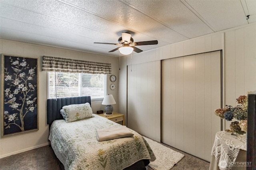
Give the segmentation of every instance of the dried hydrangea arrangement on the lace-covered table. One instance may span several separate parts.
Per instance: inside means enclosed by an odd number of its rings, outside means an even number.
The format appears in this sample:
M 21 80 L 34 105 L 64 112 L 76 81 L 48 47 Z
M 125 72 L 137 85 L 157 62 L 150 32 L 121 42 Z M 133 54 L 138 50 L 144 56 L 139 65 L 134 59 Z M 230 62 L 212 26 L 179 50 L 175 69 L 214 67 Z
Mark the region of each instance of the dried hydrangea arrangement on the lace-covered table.
M 236 99 L 236 102 L 238 102 L 237 106 L 232 107 L 226 105 L 223 109 L 214 110 L 214 113 L 227 121 L 236 119 L 237 121 L 232 121 L 230 124 L 231 130 L 228 129 L 227 131 L 243 135 L 247 130 L 247 96 L 239 96 L 239 98 Z

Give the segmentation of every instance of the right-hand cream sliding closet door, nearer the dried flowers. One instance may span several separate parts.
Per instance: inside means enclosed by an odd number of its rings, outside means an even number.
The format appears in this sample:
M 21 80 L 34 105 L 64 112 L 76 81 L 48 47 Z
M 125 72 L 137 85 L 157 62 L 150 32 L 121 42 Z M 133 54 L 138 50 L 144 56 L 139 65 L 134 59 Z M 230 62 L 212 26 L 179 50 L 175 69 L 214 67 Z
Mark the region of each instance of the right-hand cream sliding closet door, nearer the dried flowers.
M 220 118 L 221 53 L 162 61 L 162 142 L 210 161 Z

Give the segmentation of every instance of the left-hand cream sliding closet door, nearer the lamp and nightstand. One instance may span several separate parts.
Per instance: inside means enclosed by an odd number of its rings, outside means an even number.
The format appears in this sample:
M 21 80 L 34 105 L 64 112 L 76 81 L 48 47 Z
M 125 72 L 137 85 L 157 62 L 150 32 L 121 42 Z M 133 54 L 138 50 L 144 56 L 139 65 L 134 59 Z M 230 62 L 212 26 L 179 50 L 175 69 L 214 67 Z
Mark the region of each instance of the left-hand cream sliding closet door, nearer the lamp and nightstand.
M 127 126 L 160 139 L 160 61 L 128 66 Z

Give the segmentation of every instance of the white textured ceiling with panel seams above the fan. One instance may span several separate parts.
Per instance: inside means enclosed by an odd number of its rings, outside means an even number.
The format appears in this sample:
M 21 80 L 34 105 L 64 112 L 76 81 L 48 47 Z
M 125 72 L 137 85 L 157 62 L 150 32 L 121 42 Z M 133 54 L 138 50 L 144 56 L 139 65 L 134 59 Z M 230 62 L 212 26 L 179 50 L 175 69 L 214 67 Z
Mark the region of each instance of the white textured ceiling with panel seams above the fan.
M 129 32 L 158 40 L 136 46 L 147 51 L 252 22 L 256 0 L 0 0 L 0 38 L 113 57 L 118 46 L 94 42 Z

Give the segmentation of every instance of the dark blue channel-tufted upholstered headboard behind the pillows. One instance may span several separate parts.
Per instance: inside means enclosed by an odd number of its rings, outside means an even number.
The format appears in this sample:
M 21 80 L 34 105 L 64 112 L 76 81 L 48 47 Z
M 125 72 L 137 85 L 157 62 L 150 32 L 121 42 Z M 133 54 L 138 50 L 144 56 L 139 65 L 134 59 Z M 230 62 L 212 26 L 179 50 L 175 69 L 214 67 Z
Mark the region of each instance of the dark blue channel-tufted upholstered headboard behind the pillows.
M 91 96 L 79 96 L 70 98 L 47 99 L 47 124 L 51 125 L 54 120 L 63 119 L 60 109 L 65 105 L 82 104 L 88 102 L 91 105 Z

